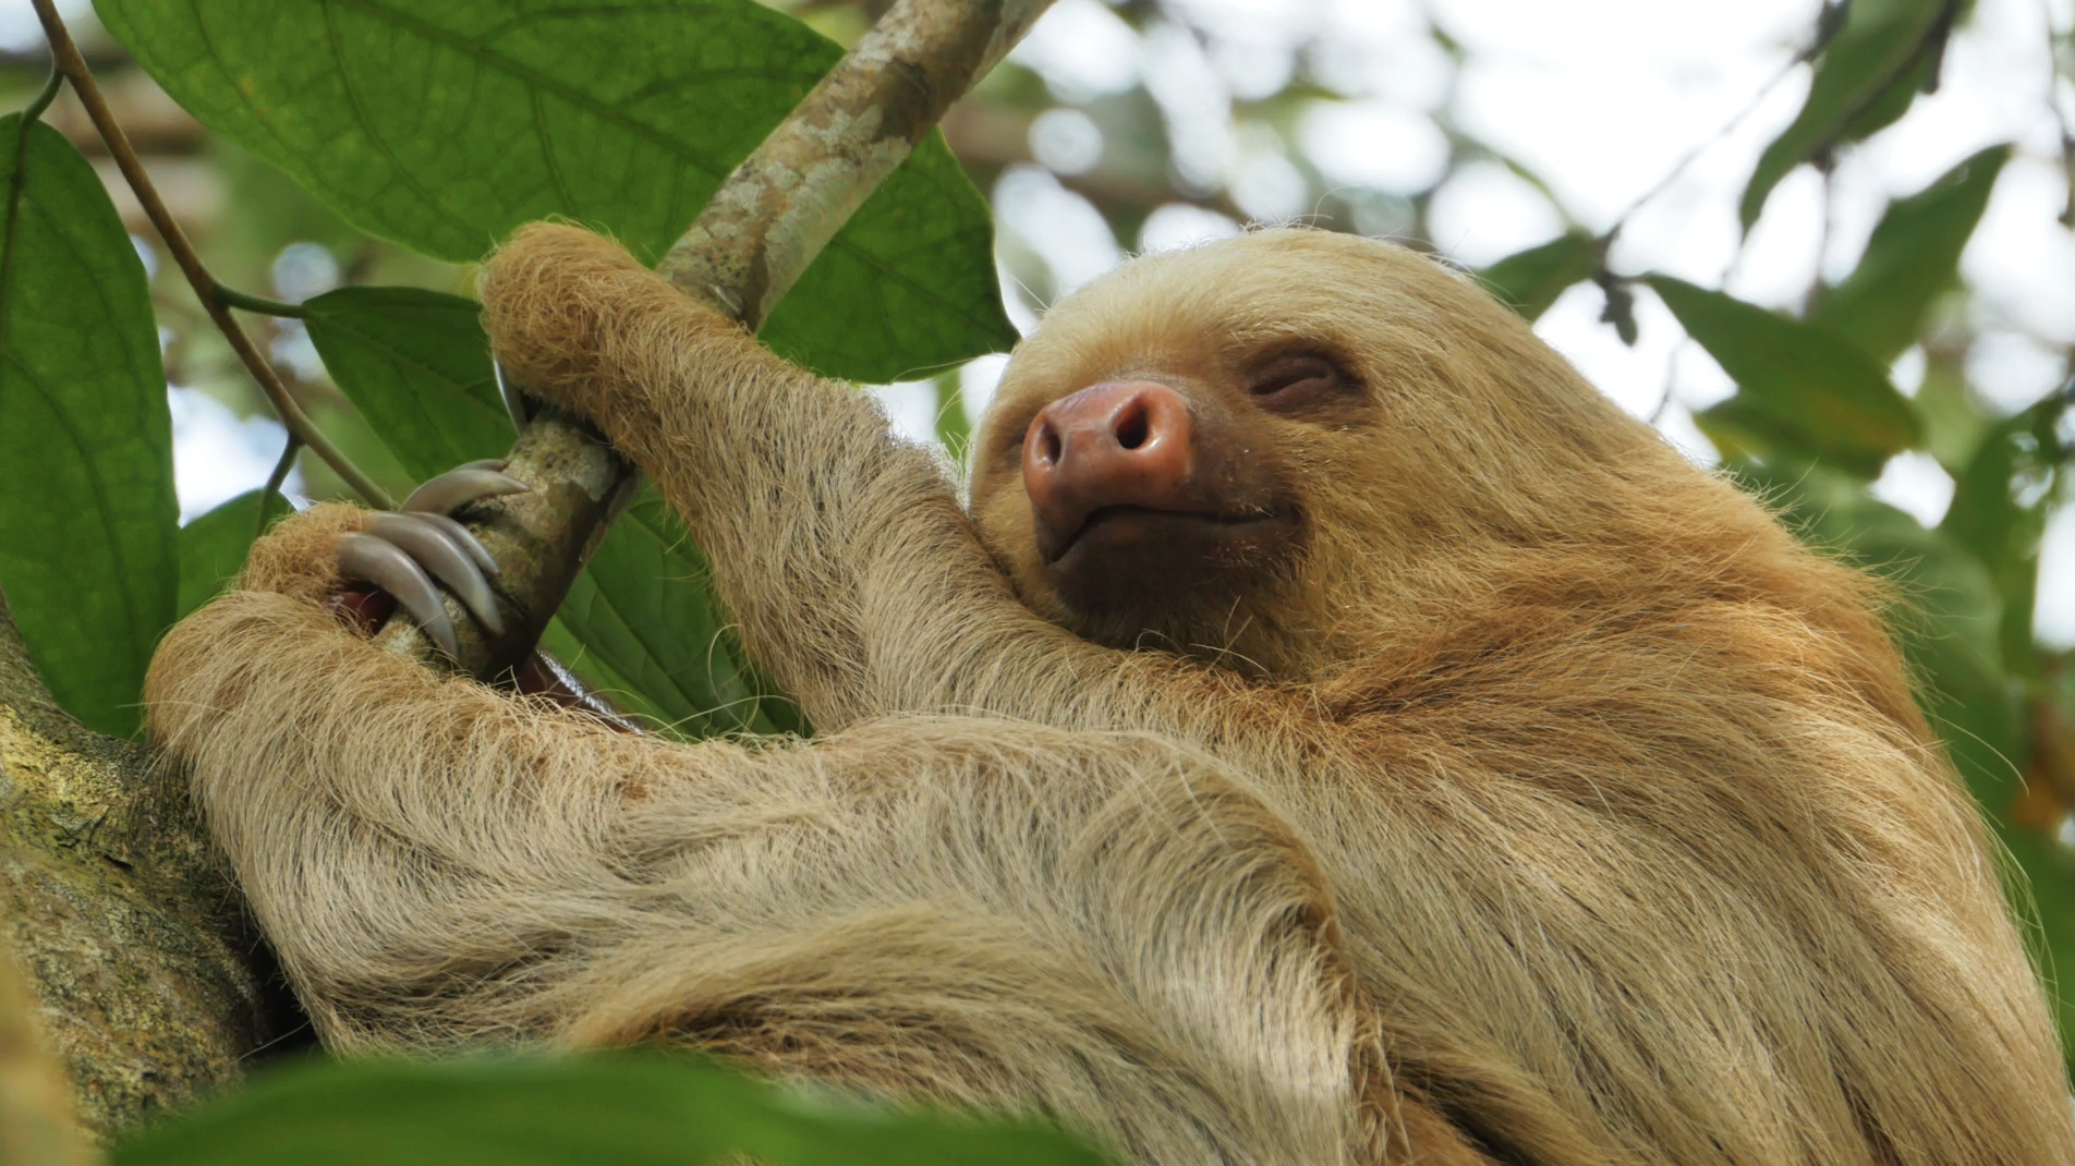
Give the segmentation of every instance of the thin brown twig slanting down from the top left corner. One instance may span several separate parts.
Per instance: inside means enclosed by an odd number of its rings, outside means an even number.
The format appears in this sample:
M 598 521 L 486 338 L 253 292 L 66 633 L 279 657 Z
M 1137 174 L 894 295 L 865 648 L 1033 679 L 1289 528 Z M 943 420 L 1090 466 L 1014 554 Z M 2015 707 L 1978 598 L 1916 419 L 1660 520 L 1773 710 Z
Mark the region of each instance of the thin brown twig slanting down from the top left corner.
M 79 46 L 73 44 L 73 35 L 64 29 L 56 4 L 52 0 L 31 0 L 31 4 L 35 4 L 35 17 L 44 23 L 44 35 L 50 37 L 50 54 L 56 58 L 58 71 L 64 73 L 64 79 L 73 83 L 73 91 L 79 93 L 79 104 L 87 108 L 87 118 L 93 120 L 93 129 L 108 143 L 108 154 L 116 160 L 116 168 L 122 170 L 122 178 L 137 195 L 137 203 L 143 205 L 145 218 L 158 228 L 158 237 L 166 241 L 166 249 L 172 251 L 172 259 L 181 266 L 181 274 L 187 276 L 187 284 L 195 288 L 195 299 L 201 301 L 203 311 L 210 313 L 216 328 L 230 340 L 230 349 L 245 361 L 253 380 L 259 382 L 288 436 L 324 459 L 324 465 L 332 467 L 332 473 L 365 498 L 369 506 L 394 510 L 396 500 L 376 485 L 361 467 L 353 465 L 353 459 L 324 436 L 324 429 L 311 421 L 309 413 L 303 413 L 303 407 L 288 394 L 288 386 L 282 384 L 280 373 L 259 355 L 251 336 L 230 315 L 224 286 L 201 266 L 201 255 L 195 253 L 193 243 L 187 241 L 187 232 L 181 230 L 172 212 L 166 210 L 166 201 L 158 197 L 158 187 L 151 185 L 151 176 L 143 170 L 143 160 L 131 147 L 129 135 L 116 122 L 108 100 L 102 98 L 100 85 L 93 83 L 93 73 L 87 71 L 87 60 L 79 56 Z

